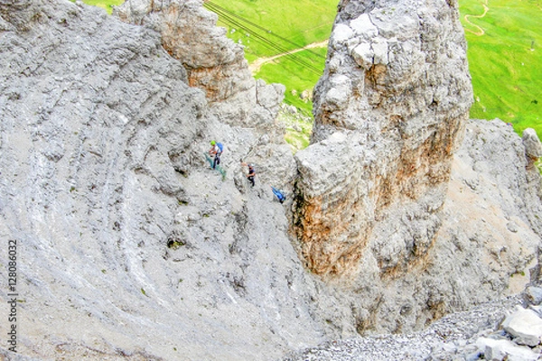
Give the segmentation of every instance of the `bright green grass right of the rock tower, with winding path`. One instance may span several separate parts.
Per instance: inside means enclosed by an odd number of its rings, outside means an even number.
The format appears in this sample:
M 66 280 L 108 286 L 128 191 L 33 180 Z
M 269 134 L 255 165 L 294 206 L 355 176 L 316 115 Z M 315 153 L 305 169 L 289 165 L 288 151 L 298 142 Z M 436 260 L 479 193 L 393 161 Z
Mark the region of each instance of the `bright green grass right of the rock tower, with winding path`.
M 468 32 L 476 29 L 464 15 L 483 14 L 481 0 L 460 0 L 476 99 L 471 116 L 499 117 L 519 134 L 531 127 L 542 138 L 542 3 L 491 0 L 488 6 L 483 18 L 470 18 L 485 32 L 478 36 Z

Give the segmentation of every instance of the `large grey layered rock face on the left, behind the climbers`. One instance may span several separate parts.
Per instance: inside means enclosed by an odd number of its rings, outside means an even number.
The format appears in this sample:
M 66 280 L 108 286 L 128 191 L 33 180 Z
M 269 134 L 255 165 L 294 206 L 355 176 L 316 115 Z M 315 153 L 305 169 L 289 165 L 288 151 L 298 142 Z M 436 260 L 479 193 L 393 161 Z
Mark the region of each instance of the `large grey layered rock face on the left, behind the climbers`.
M 20 354 L 257 360 L 322 339 L 267 183 L 294 172 L 272 112 L 259 128 L 220 122 L 159 32 L 98 8 L 3 0 L 0 16 L 0 236 L 18 245 Z M 263 109 L 280 101 L 269 87 L 253 88 Z M 224 181 L 202 154 L 213 138 Z M 255 189 L 240 158 L 266 160 Z

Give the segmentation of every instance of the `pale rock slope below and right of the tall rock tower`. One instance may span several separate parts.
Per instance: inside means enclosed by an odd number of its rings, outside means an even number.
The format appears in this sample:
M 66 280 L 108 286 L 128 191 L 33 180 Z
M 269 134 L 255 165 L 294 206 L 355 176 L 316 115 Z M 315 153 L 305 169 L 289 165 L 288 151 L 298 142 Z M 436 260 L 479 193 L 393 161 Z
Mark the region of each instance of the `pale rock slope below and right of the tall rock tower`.
M 327 143 L 339 151 L 333 154 L 342 154 L 341 144 L 345 146 L 336 135 L 323 143 L 312 147 L 322 150 Z M 406 213 L 388 209 L 393 221 L 375 222 L 355 268 L 326 278 L 334 298 L 322 296 L 316 302 L 322 318 L 332 320 L 329 332 L 341 337 L 408 333 L 448 313 L 518 294 L 536 282 L 542 178 L 529 164 L 528 149 L 500 120 L 469 121 L 453 156 L 447 189 L 439 196 L 444 205 L 426 218 L 435 228 L 425 228 L 428 222 L 418 218 L 426 203 L 410 203 Z M 325 164 L 335 163 L 341 162 Z M 340 166 L 332 170 L 337 180 L 346 177 Z M 424 255 L 413 255 L 406 272 L 383 272 L 380 260 L 404 263 L 405 249 L 416 250 L 428 232 L 435 232 L 432 243 Z

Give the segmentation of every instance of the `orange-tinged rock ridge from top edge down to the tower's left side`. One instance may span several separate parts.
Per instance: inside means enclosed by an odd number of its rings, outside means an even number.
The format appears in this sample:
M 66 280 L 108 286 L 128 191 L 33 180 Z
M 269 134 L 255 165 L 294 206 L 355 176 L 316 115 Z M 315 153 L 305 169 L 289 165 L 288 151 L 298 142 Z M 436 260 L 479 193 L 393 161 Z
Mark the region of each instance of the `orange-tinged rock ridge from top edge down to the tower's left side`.
M 228 152 L 238 153 L 238 161 L 255 163 L 262 180 L 291 194 L 294 160 L 284 140 L 285 127 L 276 122 L 285 87 L 252 78 L 242 46 L 226 37 L 226 30 L 216 26 L 217 15 L 202 5 L 201 0 L 127 0 L 114 14 L 161 33 L 164 49 L 182 63 L 189 85 L 205 92 L 210 116 L 251 130 L 242 142 L 220 127 L 210 134 L 228 143 Z M 239 162 L 232 166 L 241 171 Z

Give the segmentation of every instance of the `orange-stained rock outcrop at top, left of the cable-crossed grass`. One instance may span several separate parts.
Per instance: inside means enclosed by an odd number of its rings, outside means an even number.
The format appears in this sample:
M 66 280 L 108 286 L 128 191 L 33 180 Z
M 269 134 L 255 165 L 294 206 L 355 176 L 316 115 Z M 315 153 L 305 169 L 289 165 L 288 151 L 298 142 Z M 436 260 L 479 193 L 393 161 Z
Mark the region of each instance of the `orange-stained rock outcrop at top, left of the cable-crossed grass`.
M 243 47 L 226 37 L 226 29 L 216 26 L 218 16 L 202 5 L 201 0 L 128 0 L 115 14 L 162 34 L 164 49 L 182 62 L 191 87 L 204 90 L 220 121 L 272 123 L 284 86 L 252 78 Z

